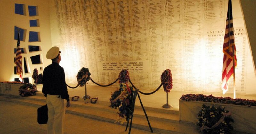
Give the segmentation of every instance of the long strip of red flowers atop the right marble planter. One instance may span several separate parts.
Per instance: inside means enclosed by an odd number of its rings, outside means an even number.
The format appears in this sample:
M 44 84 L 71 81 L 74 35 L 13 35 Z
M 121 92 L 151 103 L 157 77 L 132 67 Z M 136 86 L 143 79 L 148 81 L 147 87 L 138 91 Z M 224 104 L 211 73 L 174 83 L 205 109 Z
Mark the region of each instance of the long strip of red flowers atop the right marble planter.
M 256 106 L 255 100 L 248 99 L 233 99 L 230 97 L 215 97 L 212 95 L 203 94 L 186 94 L 182 95 L 181 98 L 184 101 L 203 101 L 203 102 L 214 102 L 214 103 L 224 103 L 224 104 L 235 104 L 235 105 L 245 105 L 245 106 Z

